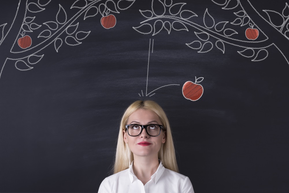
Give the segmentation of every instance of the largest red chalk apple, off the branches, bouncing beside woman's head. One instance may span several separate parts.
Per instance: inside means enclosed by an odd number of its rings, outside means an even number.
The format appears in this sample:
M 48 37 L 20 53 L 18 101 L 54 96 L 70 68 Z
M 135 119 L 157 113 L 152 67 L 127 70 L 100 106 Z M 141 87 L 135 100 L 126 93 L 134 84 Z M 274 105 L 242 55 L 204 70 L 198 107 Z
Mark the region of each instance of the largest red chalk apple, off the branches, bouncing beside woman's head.
M 186 99 L 196 101 L 201 98 L 204 92 L 204 88 L 201 84 L 197 84 L 203 81 L 203 77 L 195 77 L 195 82 L 187 81 L 183 86 L 183 95 Z

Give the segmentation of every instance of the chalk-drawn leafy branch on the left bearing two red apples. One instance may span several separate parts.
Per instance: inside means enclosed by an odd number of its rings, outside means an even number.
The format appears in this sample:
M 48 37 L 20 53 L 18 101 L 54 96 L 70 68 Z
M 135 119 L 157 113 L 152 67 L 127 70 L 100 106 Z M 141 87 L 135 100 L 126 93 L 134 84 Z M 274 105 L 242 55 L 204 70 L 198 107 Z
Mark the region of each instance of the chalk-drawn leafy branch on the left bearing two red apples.
M 51 0 L 46 1 L 45 4 L 40 3 L 39 0 L 38 3 L 28 3 L 28 0 L 19 0 L 14 19 L 9 29 L 6 30 L 7 32 L 4 33 L 4 27 L 7 25 L 7 23 L 0 25 L 0 30 L 2 32 L 0 46 L 3 46 L 3 42 L 5 42 L 5 47 L 9 47 L 9 49 L 3 49 L 7 52 L 3 53 L 3 55 L 9 55 L 9 57 L 3 58 L 4 61 L 0 61 L 0 63 L 3 65 L 0 72 L 0 78 L 3 73 L 4 66 L 8 60 L 15 60 L 16 69 L 26 71 L 33 69 L 33 67 L 30 67 L 27 63 L 38 63 L 44 56 L 44 54 L 39 55 L 38 52 L 43 52 L 43 49 L 45 49 L 50 44 L 54 44 L 56 52 L 59 52 L 63 42 L 71 46 L 81 44 L 80 41 L 84 40 L 90 34 L 90 31 L 77 32 L 79 22 L 75 23 L 75 21 L 80 16 L 84 15 L 83 19 L 85 20 L 88 17 L 96 16 L 98 13 L 100 13 L 102 17 L 105 17 L 103 14 L 106 14 L 107 18 L 101 20 L 101 25 L 106 28 L 111 28 L 115 25 L 113 25 L 115 16 L 112 14 L 109 15 L 109 12 L 119 13 L 118 10 L 126 10 L 135 2 L 135 0 L 128 0 L 129 4 L 127 4 L 127 2 L 124 2 L 124 0 L 118 0 L 117 3 L 112 0 L 107 0 L 105 1 L 105 3 L 100 3 L 99 7 L 96 6 L 96 3 L 99 3 L 100 1 L 102 0 L 72 1 L 72 5 L 70 8 L 73 10 L 77 10 L 77 12 L 73 16 L 71 16 L 71 18 L 68 18 L 65 9 L 62 7 L 62 5 L 59 4 L 58 12 L 55 16 L 55 21 L 44 21 L 43 25 L 40 25 L 32 22 L 37 17 L 38 12 L 46 11 L 46 8 L 44 8 L 44 6 L 49 4 Z M 103 12 L 100 12 L 100 7 L 104 8 Z M 33 15 L 27 15 L 30 13 L 33 13 Z M 21 23 L 21 25 L 17 26 L 16 23 Z M 46 29 L 42 29 L 44 26 L 46 27 Z M 47 27 L 49 29 L 47 29 Z M 36 30 L 38 28 L 42 29 L 40 34 L 33 34 L 33 30 Z M 15 37 L 13 33 L 18 30 L 18 36 Z M 63 32 L 66 33 L 63 34 Z M 61 35 L 64 37 L 62 37 Z M 36 37 L 42 39 L 42 41 L 37 45 L 33 45 L 32 39 Z M 11 39 L 15 41 L 11 42 Z M 21 47 L 22 51 L 19 51 L 17 49 L 16 51 L 14 51 L 15 44 Z M 35 62 L 31 62 L 30 60 L 32 56 L 33 58 L 38 59 L 36 59 Z

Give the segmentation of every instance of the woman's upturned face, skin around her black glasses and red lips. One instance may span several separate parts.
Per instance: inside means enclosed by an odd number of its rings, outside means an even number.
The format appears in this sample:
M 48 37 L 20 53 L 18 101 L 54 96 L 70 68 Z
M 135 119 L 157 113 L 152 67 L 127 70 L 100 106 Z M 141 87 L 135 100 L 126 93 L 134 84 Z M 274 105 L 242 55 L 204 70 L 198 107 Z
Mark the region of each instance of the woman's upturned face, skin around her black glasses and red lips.
M 160 121 L 159 116 L 155 114 L 153 111 L 138 109 L 134 113 L 131 113 L 126 124 L 161 125 L 162 122 Z M 157 156 L 162 143 L 166 141 L 166 135 L 163 130 L 161 130 L 160 135 L 156 137 L 148 135 L 145 129 L 143 129 L 142 133 L 136 137 L 129 136 L 127 134 L 127 131 L 123 132 L 124 132 L 123 140 L 125 141 L 125 143 L 128 144 L 134 156 Z M 139 144 L 140 142 L 143 141 L 149 142 L 150 145 L 143 146 Z

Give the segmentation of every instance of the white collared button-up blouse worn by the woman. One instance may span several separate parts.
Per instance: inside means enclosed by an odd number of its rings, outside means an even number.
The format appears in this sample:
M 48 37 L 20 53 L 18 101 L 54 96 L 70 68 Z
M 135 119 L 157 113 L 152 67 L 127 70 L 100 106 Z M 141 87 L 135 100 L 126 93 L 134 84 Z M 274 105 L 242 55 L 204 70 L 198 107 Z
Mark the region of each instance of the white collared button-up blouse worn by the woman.
M 166 169 L 162 161 L 151 179 L 143 185 L 134 174 L 133 163 L 128 169 L 105 178 L 98 193 L 194 193 L 190 179 Z

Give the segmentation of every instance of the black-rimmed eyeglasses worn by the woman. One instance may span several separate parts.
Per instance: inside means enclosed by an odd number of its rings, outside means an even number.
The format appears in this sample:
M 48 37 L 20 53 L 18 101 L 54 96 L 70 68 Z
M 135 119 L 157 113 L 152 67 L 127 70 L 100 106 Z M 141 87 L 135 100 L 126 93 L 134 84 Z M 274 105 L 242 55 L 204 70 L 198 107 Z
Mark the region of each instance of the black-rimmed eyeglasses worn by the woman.
M 145 129 L 147 134 L 152 137 L 157 137 L 163 129 L 162 125 L 150 124 L 150 125 L 139 125 L 139 124 L 129 124 L 126 125 L 128 135 L 136 137 L 142 133 L 142 130 Z

